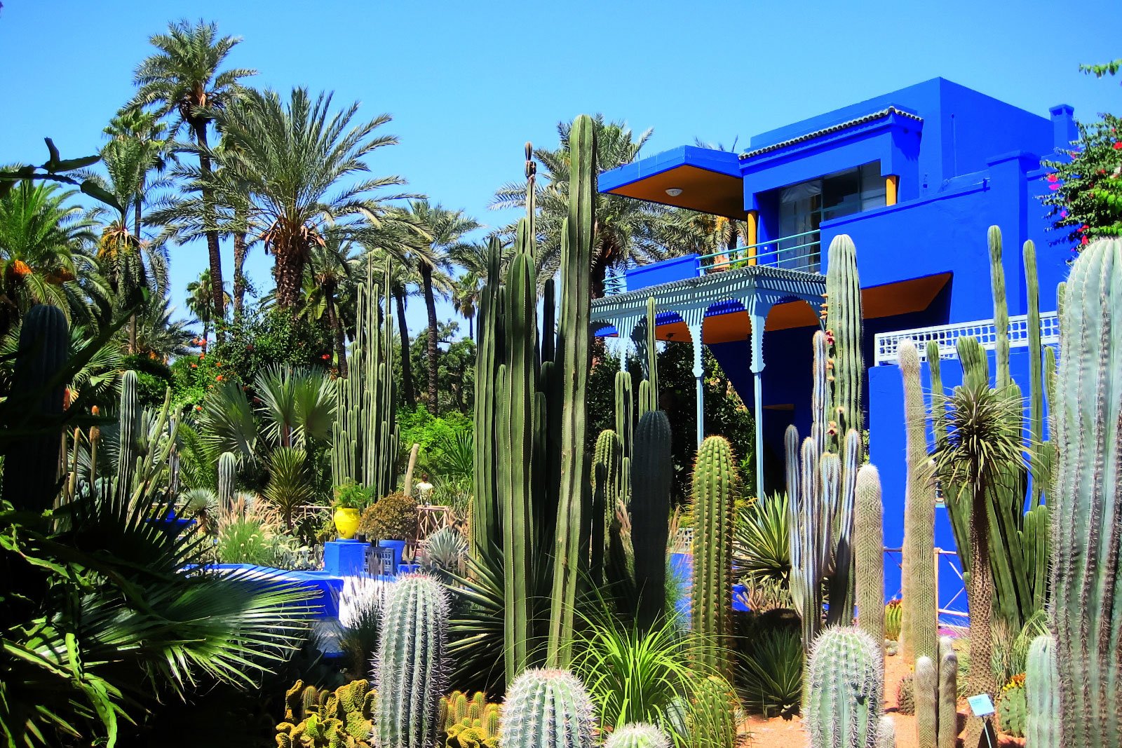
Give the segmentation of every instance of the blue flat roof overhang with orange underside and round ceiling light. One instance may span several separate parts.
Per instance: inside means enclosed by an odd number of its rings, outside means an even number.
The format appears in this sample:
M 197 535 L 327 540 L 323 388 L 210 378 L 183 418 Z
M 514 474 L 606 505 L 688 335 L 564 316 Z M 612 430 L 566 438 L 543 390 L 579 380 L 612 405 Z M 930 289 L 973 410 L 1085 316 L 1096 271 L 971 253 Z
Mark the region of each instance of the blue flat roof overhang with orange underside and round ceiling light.
M 726 150 L 680 146 L 600 174 L 599 190 L 730 219 L 745 215 L 739 159 Z

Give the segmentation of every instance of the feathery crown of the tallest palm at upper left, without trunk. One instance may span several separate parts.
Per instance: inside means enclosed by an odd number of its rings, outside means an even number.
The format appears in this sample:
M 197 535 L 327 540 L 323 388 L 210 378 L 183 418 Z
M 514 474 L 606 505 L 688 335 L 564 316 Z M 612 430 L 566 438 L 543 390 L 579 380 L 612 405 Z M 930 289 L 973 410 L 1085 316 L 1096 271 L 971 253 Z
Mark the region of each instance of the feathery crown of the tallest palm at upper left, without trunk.
M 184 123 L 196 128 L 214 119 L 241 90 L 239 81 L 257 71 L 219 70 L 241 37 L 218 34 L 217 24 L 186 20 L 168 24 L 167 34 L 148 39 L 157 53 L 141 62 L 134 74 L 138 90 L 132 108 L 155 108 L 159 117 L 175 112 L 171 132 Z

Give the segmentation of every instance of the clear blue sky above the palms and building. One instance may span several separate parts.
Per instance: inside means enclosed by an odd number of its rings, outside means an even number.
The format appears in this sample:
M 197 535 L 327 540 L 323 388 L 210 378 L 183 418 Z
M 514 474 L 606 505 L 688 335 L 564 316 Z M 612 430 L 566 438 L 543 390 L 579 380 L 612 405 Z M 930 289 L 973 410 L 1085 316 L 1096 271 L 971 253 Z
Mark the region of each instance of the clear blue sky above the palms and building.
M 64 157 L 96 150 L 147 37 L 180 18 L 243 37 L 230 64 L 257 68 L 254 85 L 333 90 L 367 117 L 392 113 L 402 144 L 376 154 L 374 173 L 490 224 L 505 222 L 487 205 L 521 176 L 523 142 L 555 145 L 557 122 L 580 112 L 654 128 L 654 154 L 695 136 L 744 146 L 935 76 L 1041 114 L 1122 111 L 1120 81 L 1076 70 L 1122 57 L 1118 0 L 3 0 L 0 163 L 42 163 L 44 136 Z M 270 264 L 255 250 L 259 286 Z M 176 299 L 204 266 L 203 246 L 173 248 Z M 410 326 L 424 326 L 420 302 Z

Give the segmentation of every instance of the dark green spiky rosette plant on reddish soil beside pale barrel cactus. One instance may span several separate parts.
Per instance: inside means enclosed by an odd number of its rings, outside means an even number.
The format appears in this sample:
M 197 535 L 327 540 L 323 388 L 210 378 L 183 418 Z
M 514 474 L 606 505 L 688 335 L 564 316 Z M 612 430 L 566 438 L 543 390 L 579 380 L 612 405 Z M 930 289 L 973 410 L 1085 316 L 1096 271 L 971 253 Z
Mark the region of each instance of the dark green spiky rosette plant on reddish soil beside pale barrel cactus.
M 737 657 L 744 705 L 767 717 L 790 718 L 802 696 L 802 637 L 783 627 L 762 632 Z

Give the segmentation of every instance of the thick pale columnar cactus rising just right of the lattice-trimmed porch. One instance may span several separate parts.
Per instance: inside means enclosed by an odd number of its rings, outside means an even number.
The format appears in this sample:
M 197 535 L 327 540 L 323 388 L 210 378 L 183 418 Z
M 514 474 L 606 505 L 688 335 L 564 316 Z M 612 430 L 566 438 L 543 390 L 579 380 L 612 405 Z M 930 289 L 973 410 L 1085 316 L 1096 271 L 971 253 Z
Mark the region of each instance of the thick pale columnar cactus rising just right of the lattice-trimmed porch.
M 850 428 L 861 432 L 864 414 L 861 405 L 865 361 L 861 353 L 862 303 L 857 277 L 857 251 L 853 240 L 838 234 L 830 242 L 826 266 L 826 330 L 833 343 L 831 407 L 829 419 L 836 424 L 831 438 L 840 449 L 840 438 Z

